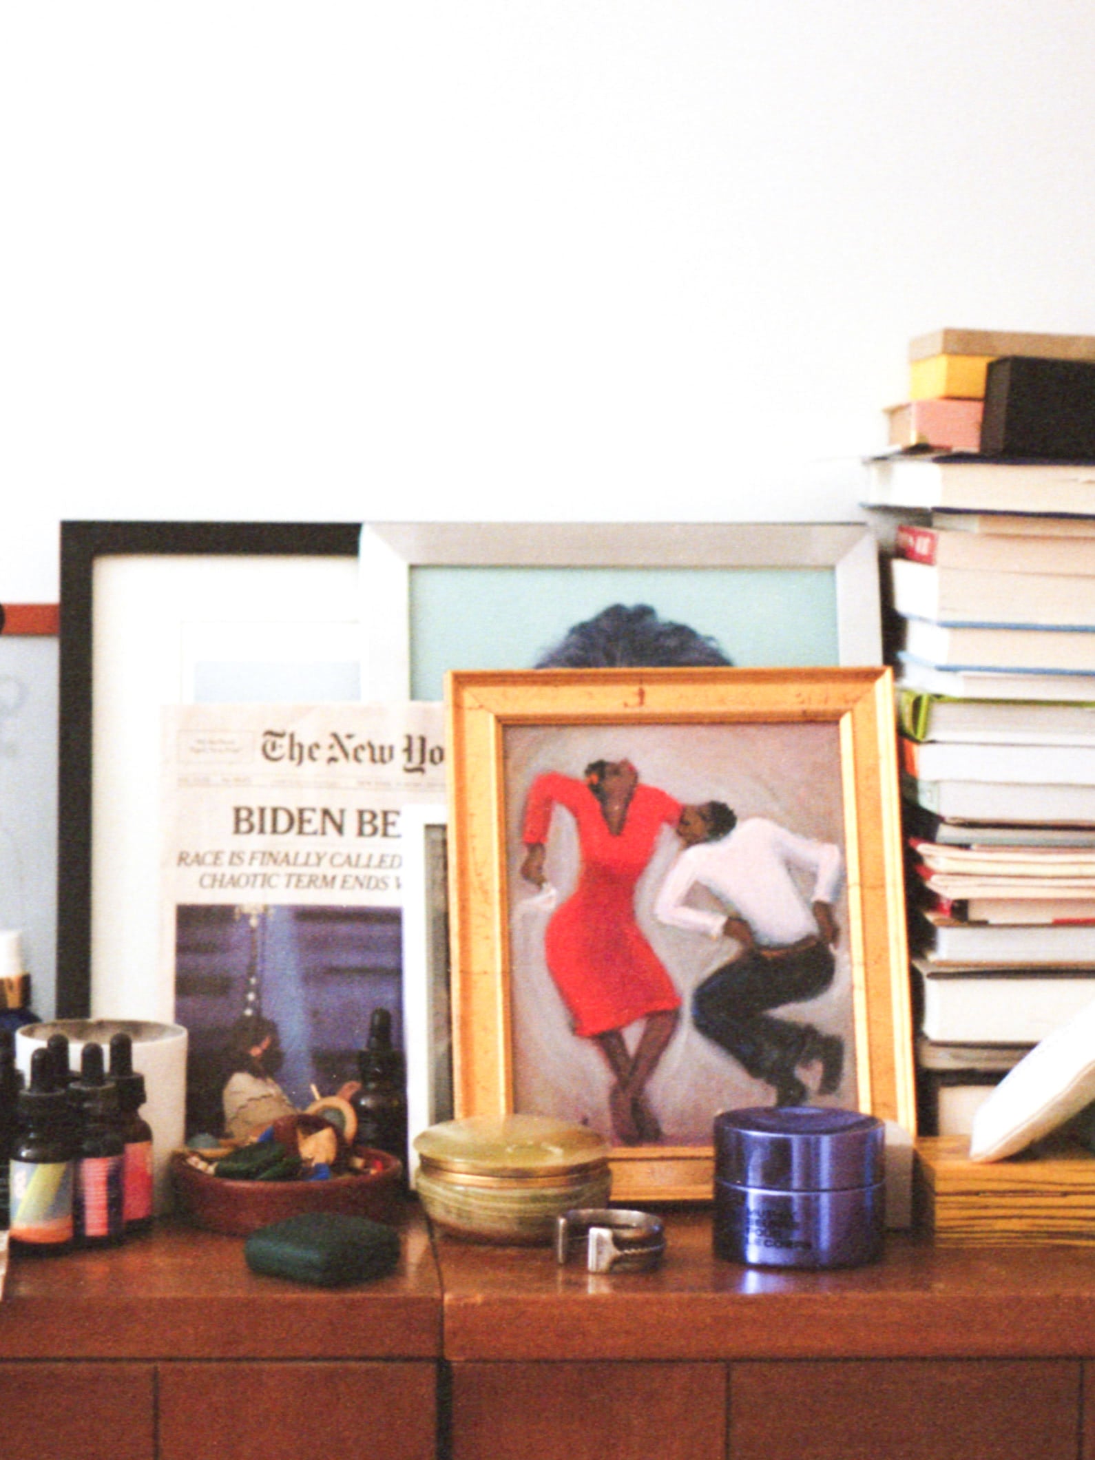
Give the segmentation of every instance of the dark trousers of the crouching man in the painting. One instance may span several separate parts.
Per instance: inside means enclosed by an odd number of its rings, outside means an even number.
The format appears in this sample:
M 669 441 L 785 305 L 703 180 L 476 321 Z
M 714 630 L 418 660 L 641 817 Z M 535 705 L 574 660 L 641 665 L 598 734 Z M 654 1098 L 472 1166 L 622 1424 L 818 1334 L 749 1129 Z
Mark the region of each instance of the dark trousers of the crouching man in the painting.
M 822 942 L 768 958 L 753 948 L 699 984 L 692 1022 L 746 1073 L 775 1083 L 793 1073 L 816 1031 L 766 1010 L 816 999 L 832 983 L 834 969 L 832 949 Z

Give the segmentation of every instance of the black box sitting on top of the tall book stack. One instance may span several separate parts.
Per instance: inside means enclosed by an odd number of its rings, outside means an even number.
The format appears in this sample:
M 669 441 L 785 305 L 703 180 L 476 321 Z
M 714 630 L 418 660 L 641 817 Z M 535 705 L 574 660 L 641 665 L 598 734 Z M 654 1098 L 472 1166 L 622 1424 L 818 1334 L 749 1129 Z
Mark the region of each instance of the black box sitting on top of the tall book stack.
M 986 456 L 1095 458 L 1095 364 L 1004 355 L 986 378 Z

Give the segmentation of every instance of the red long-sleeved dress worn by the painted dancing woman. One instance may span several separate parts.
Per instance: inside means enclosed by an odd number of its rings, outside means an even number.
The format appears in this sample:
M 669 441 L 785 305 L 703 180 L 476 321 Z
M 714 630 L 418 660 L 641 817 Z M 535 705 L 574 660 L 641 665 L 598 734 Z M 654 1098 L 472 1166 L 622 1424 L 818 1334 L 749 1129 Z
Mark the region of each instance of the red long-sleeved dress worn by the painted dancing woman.
M 574 1032 L 603 1034 L 679 1009 L 680 996 L 635 921 L 635 885 L 661 828 L 676 826 L 680 803 L 639 783 L 613 837 L 590 787 L 552 771 L 529 793 L 526 845 L 548 840 L 556 803 L 578 823 L 581 869 L 577 888 L 548 924 L 545 955 Z

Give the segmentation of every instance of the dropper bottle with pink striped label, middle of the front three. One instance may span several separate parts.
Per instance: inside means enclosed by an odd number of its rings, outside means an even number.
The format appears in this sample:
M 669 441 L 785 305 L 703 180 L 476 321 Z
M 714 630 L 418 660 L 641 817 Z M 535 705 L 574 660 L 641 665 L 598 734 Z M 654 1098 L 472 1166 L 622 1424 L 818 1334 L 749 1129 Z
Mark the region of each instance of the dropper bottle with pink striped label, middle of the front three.
M 85 1044 L 80 1077 L 69 1086 L 79 1120 L 76 1190 L 73 1196 L 77 1247 L 114 1247 L 124 1237 L 123 1167 L 118 1086 L 107 1079 L 102 1045 Z

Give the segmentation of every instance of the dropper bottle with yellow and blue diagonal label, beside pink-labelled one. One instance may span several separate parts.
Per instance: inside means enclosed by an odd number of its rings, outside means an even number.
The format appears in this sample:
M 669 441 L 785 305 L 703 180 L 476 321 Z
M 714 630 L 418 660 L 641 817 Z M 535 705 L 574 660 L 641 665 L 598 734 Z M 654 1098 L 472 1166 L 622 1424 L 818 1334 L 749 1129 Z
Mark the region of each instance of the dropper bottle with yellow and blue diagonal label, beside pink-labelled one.
M 31 1083 L 16 1096 L 10 1238 L 26 1253 L 67 1253 L 73 1244 L 76 1146 L 53 1054 L 31 1053 Z

